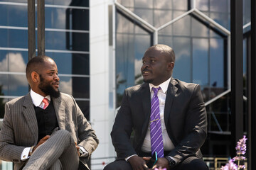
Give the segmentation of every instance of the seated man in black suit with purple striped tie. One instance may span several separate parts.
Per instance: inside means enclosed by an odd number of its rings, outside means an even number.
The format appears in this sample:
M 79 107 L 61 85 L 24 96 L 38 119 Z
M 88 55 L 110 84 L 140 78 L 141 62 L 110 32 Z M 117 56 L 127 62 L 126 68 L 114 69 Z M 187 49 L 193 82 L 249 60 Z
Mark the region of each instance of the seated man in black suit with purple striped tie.
M 105 170 L 208 169 L 200 151 L 207 135 L 201 89 L 198 84 L 171 77 L 174 62 L 174 50 L 167 45 L 153 45 L 146 50 L 141 69 L 145 83 L 124 91 L 111 132 L 117 160 L 105 166 Z M 160 87 L 156 94 L 153 87 Z M 151 120 L 151 100 L 155 96 L 159 101 L 160 117 Z M 147 163 L 153 150 L 151 129 L 154 129 L 151 123 L 156 120 L 161 122 L 161 132 L 157 136 L 161 138 L 159 143 L 163 144 L 164 153 L 153 167 L 149 167 Z

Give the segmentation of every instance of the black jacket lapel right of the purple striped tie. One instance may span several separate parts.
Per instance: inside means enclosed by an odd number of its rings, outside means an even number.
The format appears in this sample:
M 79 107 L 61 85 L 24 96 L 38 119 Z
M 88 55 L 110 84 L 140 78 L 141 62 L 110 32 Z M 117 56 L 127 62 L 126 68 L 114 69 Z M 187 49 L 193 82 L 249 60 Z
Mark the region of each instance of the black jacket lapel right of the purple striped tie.
M 177 81 L 175 81 L 171 77 L 171 81 L 167 89 L 166 102 L 164 106 L 164 123 L 166 125 L 168 125 L 169 116 L 171 114 L 171 106 L 172 106 L 172 103 L 174 102 L 174 96 L 178 90 L 178 88 L 176 87 L 176 84 L 178 84 Z

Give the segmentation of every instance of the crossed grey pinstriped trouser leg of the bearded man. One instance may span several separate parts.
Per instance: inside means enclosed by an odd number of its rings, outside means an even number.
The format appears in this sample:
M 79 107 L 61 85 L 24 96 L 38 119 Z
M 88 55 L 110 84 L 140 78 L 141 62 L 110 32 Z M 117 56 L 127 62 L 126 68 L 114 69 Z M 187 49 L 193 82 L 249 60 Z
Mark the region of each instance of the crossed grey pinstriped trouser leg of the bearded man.
M 78 169 L 79 157 L 75 142 L 70 136 L 70 132 L 66 130 L 58 130 L 46 142 L 40 145 L 28 159 L 23 169 L 49 169 L 50 166 L 55 164 L 57 159 L 60 159 L 63 169 Z

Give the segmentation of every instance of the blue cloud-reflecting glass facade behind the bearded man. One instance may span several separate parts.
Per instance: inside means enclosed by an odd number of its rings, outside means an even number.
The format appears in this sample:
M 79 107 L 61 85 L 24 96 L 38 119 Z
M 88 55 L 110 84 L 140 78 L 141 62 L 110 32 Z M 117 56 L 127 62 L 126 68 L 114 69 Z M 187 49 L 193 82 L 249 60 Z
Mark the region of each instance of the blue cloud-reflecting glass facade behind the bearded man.
M 60 91 L 73 95 L 89 118 L 89 0 L 45 3 L 46 55 L 58 66 Z M 0 1 L 0 118 L 6 101 L 28 93 L 27 8 L 26 0 Z

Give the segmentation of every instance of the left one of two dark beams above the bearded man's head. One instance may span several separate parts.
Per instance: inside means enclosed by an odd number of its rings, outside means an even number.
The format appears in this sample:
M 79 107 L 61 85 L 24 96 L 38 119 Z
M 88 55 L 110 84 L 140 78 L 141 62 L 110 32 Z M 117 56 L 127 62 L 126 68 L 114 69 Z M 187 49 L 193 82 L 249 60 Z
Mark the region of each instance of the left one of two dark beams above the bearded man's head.
M 28 61 L 36 56 L 35 0 L 28 0 Z

